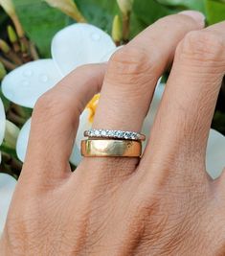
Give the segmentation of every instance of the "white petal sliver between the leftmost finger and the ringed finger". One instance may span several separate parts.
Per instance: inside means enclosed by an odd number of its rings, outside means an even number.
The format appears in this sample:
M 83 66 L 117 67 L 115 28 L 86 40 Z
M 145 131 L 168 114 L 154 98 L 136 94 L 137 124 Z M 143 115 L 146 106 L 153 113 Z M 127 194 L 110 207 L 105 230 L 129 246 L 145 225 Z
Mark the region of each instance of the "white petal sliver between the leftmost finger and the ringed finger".
M 80 144 L 81 144 L 81 140 L 83 140 L 84 138 L 83 131 L 91 128 L 91 123 L 88 122 L 89 114 L 90 114 L 89 110 L 85 108 L 79 117 L 79 129 L 76 137 L 76 143 L 70 157 L 71 163 L 73 163 L 76 166 L 78 166 L 79 162 L 81 161 Z

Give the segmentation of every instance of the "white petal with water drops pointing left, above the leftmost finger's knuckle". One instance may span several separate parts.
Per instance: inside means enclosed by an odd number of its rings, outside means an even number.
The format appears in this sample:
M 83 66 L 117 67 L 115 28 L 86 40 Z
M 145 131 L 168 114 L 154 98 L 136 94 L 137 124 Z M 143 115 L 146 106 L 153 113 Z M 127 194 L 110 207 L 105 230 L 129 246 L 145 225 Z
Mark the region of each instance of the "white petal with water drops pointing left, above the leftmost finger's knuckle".
M 38 59 L 11 71 L 2 81 L 2 91 L 15 104 L 34 107 L 36 100 L 60 79 L 53 59 Z

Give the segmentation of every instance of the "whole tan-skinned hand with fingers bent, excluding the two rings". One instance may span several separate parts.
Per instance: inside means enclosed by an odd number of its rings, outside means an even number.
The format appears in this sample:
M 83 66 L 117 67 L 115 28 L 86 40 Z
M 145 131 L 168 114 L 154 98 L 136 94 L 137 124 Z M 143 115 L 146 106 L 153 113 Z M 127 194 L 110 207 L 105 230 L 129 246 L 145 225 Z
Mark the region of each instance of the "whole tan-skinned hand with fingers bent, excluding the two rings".
M 160 19 L 109 63 L 79 67 L 38 100 L 1 255 L 225 255 L 224 175 L 213 181 L 205 167 L 225 22 L 203 27 L 198 12 Z M 93 128 L 139 131 L 172 60 L 142 159 L 84 158 L 72 173 L 92 96 L 101 91 Z

